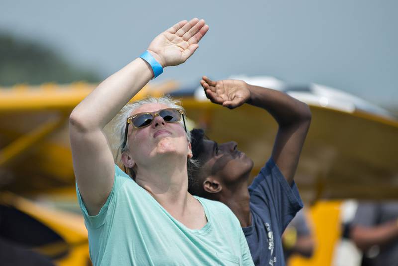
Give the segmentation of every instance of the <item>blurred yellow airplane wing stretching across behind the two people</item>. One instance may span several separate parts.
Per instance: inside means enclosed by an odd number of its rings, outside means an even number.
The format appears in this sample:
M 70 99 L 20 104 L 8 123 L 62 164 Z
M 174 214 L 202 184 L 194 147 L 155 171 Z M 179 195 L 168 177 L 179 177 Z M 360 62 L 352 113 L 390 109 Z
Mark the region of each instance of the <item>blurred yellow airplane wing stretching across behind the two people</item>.
M 77 83 L 0 90 L 3 189 L 32 194 L 74 184 L 67 119 L 94 87 Z M 177 88 L 176 82 L 148 86 L 136 98 Z M 299 95 L 298 90 L 288 93 Z M 209 137 L 237 141 L 239 149 L 254 160 L 252 176 L 258 173 L 271 154 L 277 132 L 267 112 L 249 105 L 229 110 L 198 100 L 193 92 L 173 94 L 182 98 L 188 118 L 205 128 Z M 323 98 L 317 104 L 311 97 L 304 99 L 313 116 L 295 177 L 303 199 L 398 198 L 397 120 L 363 109 L 325 105 Z

